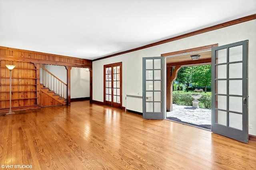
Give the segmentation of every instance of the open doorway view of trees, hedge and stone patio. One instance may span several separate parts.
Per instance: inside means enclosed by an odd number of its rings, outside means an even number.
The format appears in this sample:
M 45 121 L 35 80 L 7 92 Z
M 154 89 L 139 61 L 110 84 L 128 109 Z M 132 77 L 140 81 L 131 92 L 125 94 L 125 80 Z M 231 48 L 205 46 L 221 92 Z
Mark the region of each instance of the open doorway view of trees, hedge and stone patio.
M 166 119 L 210 130 L 211 65 L 180 68 L 172 87 L 172 111 Z

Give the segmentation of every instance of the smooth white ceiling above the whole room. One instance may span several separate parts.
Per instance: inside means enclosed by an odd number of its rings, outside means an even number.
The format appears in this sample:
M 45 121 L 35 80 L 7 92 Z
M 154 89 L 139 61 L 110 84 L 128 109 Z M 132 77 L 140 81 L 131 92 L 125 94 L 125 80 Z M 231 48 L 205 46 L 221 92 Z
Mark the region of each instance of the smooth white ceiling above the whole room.
M 97 59 L 256 14 L 256 0 L 0 0 L 0 46 Z

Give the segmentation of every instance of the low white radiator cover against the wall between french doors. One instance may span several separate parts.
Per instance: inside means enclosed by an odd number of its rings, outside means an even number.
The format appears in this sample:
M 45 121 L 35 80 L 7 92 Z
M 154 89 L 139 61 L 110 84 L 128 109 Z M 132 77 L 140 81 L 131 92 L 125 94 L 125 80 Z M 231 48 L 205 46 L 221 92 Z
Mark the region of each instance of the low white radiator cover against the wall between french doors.
M 126 95 L 126 109 L 143 113 L 143 97 Z

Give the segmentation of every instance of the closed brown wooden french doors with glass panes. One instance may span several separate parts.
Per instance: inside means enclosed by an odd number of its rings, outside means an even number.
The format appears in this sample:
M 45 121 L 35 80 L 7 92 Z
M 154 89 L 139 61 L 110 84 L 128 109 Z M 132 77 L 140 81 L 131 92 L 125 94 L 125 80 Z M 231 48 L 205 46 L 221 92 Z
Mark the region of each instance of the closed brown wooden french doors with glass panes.
M 104 65 L 104 104 L 122 107 L 122 62 Z

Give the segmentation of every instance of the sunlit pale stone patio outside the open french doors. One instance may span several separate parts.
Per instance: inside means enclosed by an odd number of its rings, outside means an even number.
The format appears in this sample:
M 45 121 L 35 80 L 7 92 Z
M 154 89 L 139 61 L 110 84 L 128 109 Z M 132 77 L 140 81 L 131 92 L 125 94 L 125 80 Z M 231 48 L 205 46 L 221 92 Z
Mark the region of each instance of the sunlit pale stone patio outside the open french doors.
M 196 109 L 192 106 L 173 104 L 173 111 L 166 112 L 166 118 L 170 119 L 170 117 L 176 117 L 188 124 L 211 125 L 211 109 Z M 176 121 L 175 119 L 173 120 Z

